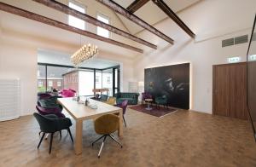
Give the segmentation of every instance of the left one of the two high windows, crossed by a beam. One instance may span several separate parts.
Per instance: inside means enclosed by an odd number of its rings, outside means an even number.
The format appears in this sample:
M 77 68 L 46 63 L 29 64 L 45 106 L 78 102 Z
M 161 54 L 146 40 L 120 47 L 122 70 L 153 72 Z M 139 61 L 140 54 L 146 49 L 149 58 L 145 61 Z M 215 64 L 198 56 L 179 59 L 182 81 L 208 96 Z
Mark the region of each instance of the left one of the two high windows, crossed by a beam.
M 76 3 L 74 1 L 69 1 L 68 6 L 72 9 L 78 10 L 81 13 L 85 14 L 85 8 L 83 5 Z M 76 28 L 85 30 L 85 22 L 84 20 L 80 20 L 79 18 L 74 17 L 73 15 L 68 15 L 68 25 L 74 26 Z

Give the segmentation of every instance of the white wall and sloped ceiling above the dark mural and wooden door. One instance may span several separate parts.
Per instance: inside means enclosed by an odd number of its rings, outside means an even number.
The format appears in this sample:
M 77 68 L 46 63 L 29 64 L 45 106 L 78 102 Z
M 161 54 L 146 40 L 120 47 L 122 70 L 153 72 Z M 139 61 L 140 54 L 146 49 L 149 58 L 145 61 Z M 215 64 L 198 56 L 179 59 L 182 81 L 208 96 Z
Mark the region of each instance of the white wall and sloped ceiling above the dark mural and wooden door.
M 191 109 L 212 113 L 212 65 L 227 63 L 230 56 L 241 56 L 244 61 L 247 53 L 248 43 L 222 48 L 221 41 L 250 34 L 251 28 L 248 27 L 253 26 L 255 7 L 254 0 L 208 0 L 197 3 L 178 14 L 195 32 L 195 40 L 170 19 L 155 26 L 172 37 L 174 45 L 152 37 L 149 32 L 141 32 L 139 37 L 158 40 L 160 49 L 139 56 L 134 61 L 134 77 L 137 81 L 143 81 L 146 67 L 190 62 Z

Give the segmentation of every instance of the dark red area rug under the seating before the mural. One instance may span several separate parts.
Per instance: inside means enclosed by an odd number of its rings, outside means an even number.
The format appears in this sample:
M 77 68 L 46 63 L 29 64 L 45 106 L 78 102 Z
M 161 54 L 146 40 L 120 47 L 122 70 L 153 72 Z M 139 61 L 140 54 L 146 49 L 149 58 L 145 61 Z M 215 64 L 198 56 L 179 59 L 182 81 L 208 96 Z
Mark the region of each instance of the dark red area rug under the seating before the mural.
M 146 110 L 147 105 L 137 105 L 134 107 L 130 107 L 133 110 L 136 110 L 138 112 L 144 112 L 144 113 L 148 113 L 149 115 L 153 115 L 155 117 L 162 117 L 164 115 L 166 115 L 167 113 L 171 113 L 171 112 L 175 112 L 177 111 L 176 109 L 173 108 L 164 108 L 164 107 L 154 107 L 151 106 L 152 110 Z

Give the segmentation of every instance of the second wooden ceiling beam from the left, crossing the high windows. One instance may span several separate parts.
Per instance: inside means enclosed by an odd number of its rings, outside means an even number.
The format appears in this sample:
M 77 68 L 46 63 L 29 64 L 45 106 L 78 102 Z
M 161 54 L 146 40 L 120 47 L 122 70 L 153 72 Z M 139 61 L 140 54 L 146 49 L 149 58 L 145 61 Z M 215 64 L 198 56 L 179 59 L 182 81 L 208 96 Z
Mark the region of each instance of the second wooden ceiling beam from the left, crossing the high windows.
M 52 8 L 52 9 L 56 9 L 62 13 L 71 14 L 74 17 L 84 20 L 94 26 L 101 26 L 102 28 L 107 29 L 110 32 L 116 33 L 116 34 L 118 34 L 122 37 L 126 37 L 128 39 L 131 39 L 137 43 L 142 43 L 143 45 L 146 45 L 152 49 L 157 49 L 157 46 L 154 45 L 153 43 L 148 43 L 147 41 L 143 40 L 142 38 L 131 35 L 130 33 L 124 32 L 124 31 L 120 30 L 119 28 L 108 25 L 100 20 L 96 20 L 95 18 L 91 17 L 88 14 L 83 14 L 75 9 L 69 8 L 65 4 L 56 2 L 54 0 L 33 0 L 33 1 L 44 4 L 45 6 Z

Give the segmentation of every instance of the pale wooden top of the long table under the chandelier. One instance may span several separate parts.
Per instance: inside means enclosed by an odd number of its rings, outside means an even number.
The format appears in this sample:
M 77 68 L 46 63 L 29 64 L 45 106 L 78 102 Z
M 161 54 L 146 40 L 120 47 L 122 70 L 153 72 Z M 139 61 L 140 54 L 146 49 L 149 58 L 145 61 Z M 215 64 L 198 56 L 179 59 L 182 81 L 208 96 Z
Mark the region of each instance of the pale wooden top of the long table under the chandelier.
M 84 104 L 79 104 L 78 101 L 73 101 L 72 97 L 58 98 L 57 100 L 72 117 L 76 120 L 84 120 L 90 118 L 96 118 L 106 113 L 116 113 L 121 110 L 119 107 L 113 107 L 101 101 L 95 101 L 90 99 L 90 104 L 96 104 L 97 109 L 86 107 Z

